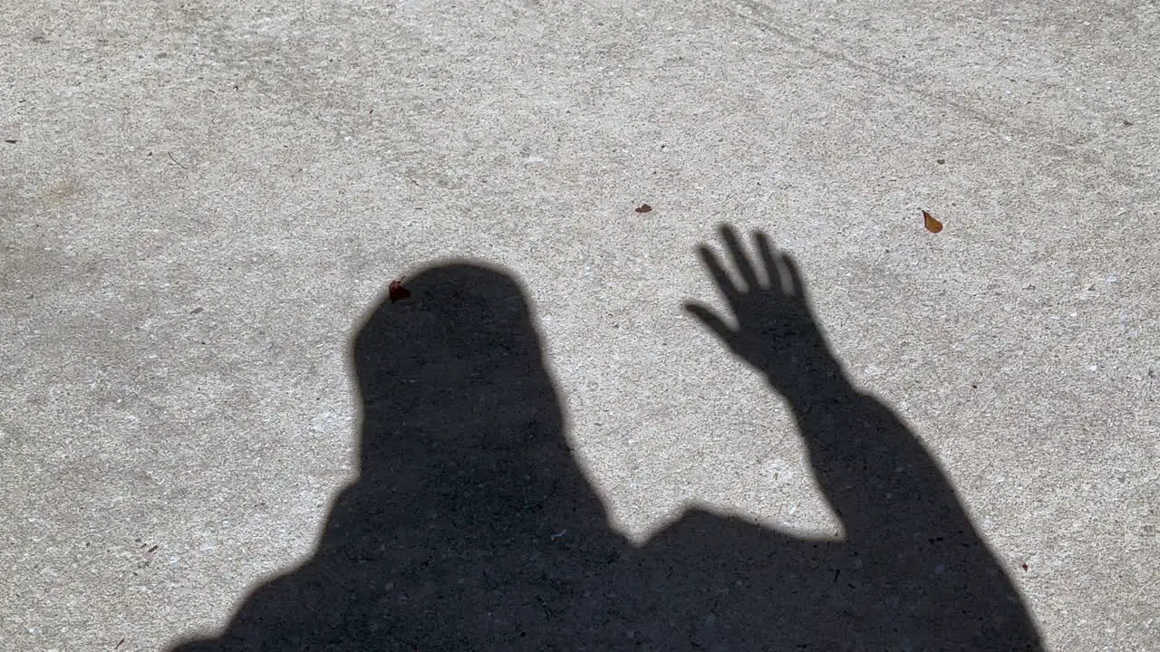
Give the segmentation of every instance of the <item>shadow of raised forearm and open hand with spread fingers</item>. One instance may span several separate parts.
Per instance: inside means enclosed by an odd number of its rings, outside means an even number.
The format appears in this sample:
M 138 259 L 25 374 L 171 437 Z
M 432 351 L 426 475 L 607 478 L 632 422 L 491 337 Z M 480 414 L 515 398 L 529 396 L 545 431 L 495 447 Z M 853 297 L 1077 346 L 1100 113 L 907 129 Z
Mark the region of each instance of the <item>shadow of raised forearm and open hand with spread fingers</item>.
M 846 378 L 813 316 L 793 259 L 775 252 L 760 232 L 754 234 L 756 259 L 745 253 L 727 226 L 720 236 L 741 283 L 708 247 L 701 255 L 735 325 L 703 305 L 687 309 L 785 397 L 818 480 L 848 536 L 899 546 L 914 538 L 971 531 L 950 483 L 922 443 L 889 408 Z

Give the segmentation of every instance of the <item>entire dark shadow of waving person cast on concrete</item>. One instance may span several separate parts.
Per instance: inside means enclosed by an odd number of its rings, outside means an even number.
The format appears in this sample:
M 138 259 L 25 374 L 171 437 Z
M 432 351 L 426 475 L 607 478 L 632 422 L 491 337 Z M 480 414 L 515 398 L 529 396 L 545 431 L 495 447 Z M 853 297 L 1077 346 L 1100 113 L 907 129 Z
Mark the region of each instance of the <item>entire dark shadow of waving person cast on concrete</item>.
M 631 545 L 568 449 L 523 294 L 447 265 L 355 339 L 361 474 L 314 556 L 177 650 L 1041 650 L 935 461 L 844 379 L 792 261 L 722 234 L 744 284 L 703 256 L 737 325 L 688 307 L 785 397 L 842 541 L 693 510 Z

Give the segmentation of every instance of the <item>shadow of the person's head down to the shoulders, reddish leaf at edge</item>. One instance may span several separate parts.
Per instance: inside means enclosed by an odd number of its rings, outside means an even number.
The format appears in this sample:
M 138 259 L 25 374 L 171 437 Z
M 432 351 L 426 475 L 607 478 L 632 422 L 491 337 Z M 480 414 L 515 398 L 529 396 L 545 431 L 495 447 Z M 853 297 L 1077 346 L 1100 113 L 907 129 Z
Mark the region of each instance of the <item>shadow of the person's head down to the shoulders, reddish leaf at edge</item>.
M 601 519 L 564 435 L 528 297 L 507 273 L 452 262 L 406 281 L 354 339 L 362 481 L 438 509 L 522 520 L 532 509 Z M 553 498 L 554 497 L 554 498 Z M 542 527 L 550 526 L 548 519 Z M 537 527 L 537 529 L 539 529 Z

